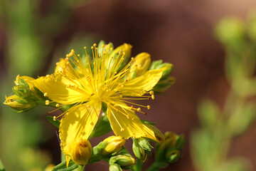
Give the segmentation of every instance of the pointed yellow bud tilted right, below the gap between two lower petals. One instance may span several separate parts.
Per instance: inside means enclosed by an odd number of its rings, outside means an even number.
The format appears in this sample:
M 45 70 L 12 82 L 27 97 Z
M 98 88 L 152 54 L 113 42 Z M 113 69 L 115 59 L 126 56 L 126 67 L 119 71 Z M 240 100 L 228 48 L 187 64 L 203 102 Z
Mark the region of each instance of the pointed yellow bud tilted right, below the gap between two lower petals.
M 103 140 L 107 145 L 102 149 L 102 155 L 110 155 L 114 152 L 119 152 L 124 146 L 125 140 L 120 136 L 110 136 Z

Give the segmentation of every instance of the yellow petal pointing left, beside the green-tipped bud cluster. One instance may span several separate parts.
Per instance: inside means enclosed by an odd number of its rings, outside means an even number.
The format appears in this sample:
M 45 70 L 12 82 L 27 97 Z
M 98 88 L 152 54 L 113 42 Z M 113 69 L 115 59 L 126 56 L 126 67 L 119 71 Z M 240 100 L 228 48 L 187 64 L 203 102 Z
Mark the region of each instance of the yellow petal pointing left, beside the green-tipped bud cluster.
M 80 88 L 67 88 L 67 86 L 78 86 L 80 84 L 75 80 L 71 82 L 60 74 L 40 77 L 33 81 L 33 85 L 42 93 L 47 93 L 48 98 L 57 103 L 73 104 L 86 101 L 89 97 Z

